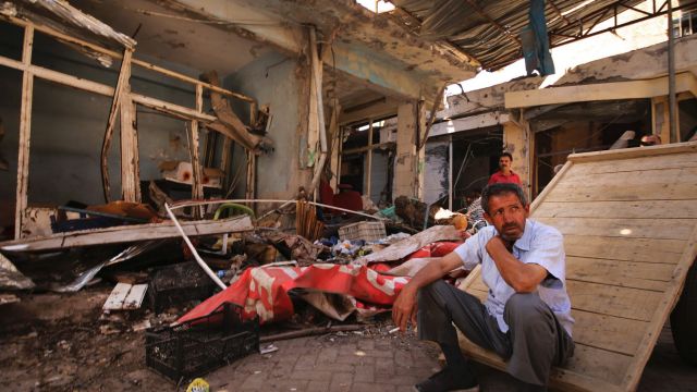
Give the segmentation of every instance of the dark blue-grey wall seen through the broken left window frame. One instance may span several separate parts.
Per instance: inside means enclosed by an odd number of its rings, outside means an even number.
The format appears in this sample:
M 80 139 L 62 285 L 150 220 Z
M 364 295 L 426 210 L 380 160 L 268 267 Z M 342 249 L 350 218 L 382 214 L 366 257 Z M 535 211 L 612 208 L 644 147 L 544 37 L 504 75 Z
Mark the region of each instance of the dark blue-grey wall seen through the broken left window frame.
M 21 30 L 0 23 L 0 52 L 3 56 L 19 58 L 21 46 L 16 45 L 17 40 L 22 41 Z M 157 62 L 162 64 L 162 61 Z M 103 68 L 42 35 L 36 37 L 33 63 L 111 86 L 115 85 L 120 65 L 115 62 L 111 68 Z M 198 74 L 196 70 L 175 64 L 162 65 L 193 76 Z M 8 171 L 0 171 L 0 200 L 3 204 L 14 204 L 15 198 L 21 79 L 17 71 L 0 66 L 0 117 L 7 133 L 0 148 L 10 164 Z M 193 87 L 188 89 L 137 66 L 133 68 L 131 83 L 133 90 L 139 94 L 189 107 L 195 101 Z M 71 199 L 86 204 L 103 203 L 100 155 L 110 105 L 108 97 L 35 78 L 29 205 L 61 205 Z M 142 180 L 159 179 L 158 164 L 163 160 L 189 159 L 183 121 L 138 107 L 137 122 Z M 120 198 L 118 128 L 109 155 L 109 173 L 112 195 Z

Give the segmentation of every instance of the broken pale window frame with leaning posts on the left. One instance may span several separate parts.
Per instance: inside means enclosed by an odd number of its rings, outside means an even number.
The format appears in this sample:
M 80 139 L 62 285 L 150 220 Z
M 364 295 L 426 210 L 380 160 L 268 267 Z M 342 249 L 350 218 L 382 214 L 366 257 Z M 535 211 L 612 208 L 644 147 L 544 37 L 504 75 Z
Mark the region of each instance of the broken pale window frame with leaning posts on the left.
M 0 20 L 10 24 L 20 26 L 24 29 L 24 39 L 22 47 L 22 60 L 17 61 L 4 56 L 0 56 L 0 66 L 8 66 L 22 72 L 22 99 L 20 109 L 20 143 L 19 143 L 19 158 L 17 158 L 17 184 L 16 184 L 16 201 L 15 201 L 15 230 L 14 237 L 19 240 L 22 237 L 22 223 L 24 220 L 25 210 L 27 208 L 27 194 L 28 194 L 28 179 L 29 179 L 29 145 L 30 145 L 30 127 L 32 127 L 32 99 L 34 94 L 34 77 L 39 77 L 48 82 L 57 83 L 59 85 L 73 87 L 80 90 L 99 94 L 107 97 L 113 97 L 111 107 L 111 113 L 108 122 L 109 127 L 113 126 L 115 121 L 115 114 L 121 110 L 121 132 L 129 135 L 129 137 L 122 137 L 121 148 L 121 162 L 122 162 L 122 197 L 125 201 L 139 201 L 139 174 L 138 174 L 138 151 L 137 151 L 137 132 L 133 124 L 136 120 L 135 107 L 136 105 L 143 105 L 147 108 L 157 110 L 159 112 L 172 115 L 178 119 L 191 121 L 191 135 L 189 135 L 189 149 L 192 150 L 192 167 L 193 169 L 193 185 L 192 185 L 192 198 L 203 199 L 203 168 L 200 166 L 200 159 L 198 157 L 198 130 L 200 124 L 211 123 L 217 120 L 215 115 L 205 113 L 203 111 L 203 94 L 204 88 L 219 93 L 221 95 L 240 99 L 249 105 L 249 111 L 255 112 L 257 102 L 254 98 L 247 97 L 243 94 L 234 93 L 212 84 L 205 83 L 186 76 L 184 74 L 132 58 L 132 48 L 125 48 L 123 53 L 114 50 L 107 49 L 99 45 L 86 41 L 84 39 L 71 36 L 69 34 L 61 33 L 53 28 L 44 26 L 32 21 L 22 20 L 10 15 L 0 15 Z M 119 75 L 119 83 L 115 87 L 108 86 L 98 82 L 83 79 L 70 74 L 53 71 L 42 66 L 38 66 L 32 63 L 32 49 L 34 42 L 35 32 L 40 32 L 47 36 L 70 44 L 77 45 L 86 50 L 96 51 L 101 54 L 106 54 L 115 60 L 122 60 L 122 70 Z M 157 98 L 148 97 L 140 94 L 135 94 L 130 89 L 131 78 L 131 65 L 137 65 L 150 71 L 155 71 L 159 74 L 172 77 L 180 82 L 188 83 L 196 88 L 196 102 L 195 108 L 188 108 L 175 103 L 171 103 Z M 131 124 L 131 125 L 126 125 Z M 124 132 L 125 130 L 125 132 Z M 130 130 L 130 132 L 129 132 Z M 108 149 L 110 143 L 110 135 L 105 135 L 106 148 Z M 229 137 L 225 137 L 225 145 L 231 146 L 231 142 L 228 142 Z M 223 150 L 222 162 L 227 164 L 230 161 L 230 151 L 228 148 Z M 103 152 L 103 150 L 102 150 Z M 254 152 L 247 151 L 247 195 L 254 195 L 254 171 L 255 171 L 255 156 Z M 124 170 L 124 162 L 127 162 L 127 168 Z M 106 166 L 106 155 L 102 156 L 102 169 Z M 223 167 L 224 171 L 224 167 Z M 103 173 L 103 171 L 102 171 Z M 108 195 L 108 176 L 103 179 L 105 195 L 107 201 L 109 201 Z M 200 213 L 200 212 L 199 212 Z

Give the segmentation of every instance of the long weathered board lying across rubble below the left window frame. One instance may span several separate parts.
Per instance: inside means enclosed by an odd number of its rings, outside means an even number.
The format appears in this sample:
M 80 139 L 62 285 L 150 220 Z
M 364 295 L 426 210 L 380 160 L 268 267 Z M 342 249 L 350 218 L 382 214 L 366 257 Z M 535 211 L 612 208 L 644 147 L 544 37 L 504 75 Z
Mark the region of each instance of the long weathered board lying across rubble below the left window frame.
M 221 219 L 217 221 L 200 220 L 182 222 L 182 228 L 188 236 L 223 234 L 254 230 L 252 220 L 247 216 Z M 172 221 L 162 223 L 133 224 L 106 229 L 81 230 L 58 233 L 47 237 L 36 237 L 0 243 L 4 252 L 33 252 L 63 249 L 80 246 L 119 244 L 127 242 L 176 238 L 180 236 Z

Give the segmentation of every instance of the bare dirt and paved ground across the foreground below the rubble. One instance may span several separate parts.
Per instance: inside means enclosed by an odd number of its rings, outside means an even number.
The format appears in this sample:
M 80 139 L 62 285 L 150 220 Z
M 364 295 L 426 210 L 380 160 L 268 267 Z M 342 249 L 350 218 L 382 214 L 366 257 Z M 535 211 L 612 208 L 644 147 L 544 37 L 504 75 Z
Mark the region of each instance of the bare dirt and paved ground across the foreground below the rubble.
M 178 390 L 175 383 L 146 368 L 145 333 L 131 330 L 144 319 L 167 321 L 175 315 L 155 318 L 140 310 L 124 319 L 112 316 L 103 320 L 101 306 L 110 290 L 111 286 L 103 284 L 75 294 L 22 295 L 20 303 L 0 306 L 0 388 L 12 391 Z M 363 332 L 279 342 L 277 353 L 249 355 L 206 378 L 216 391 L 353 391 L 368 385 L 375 390 L 377 385 L 379 390 L 396 392 L 437 369 L 438 350 L 416 342 L 413 335 L 388 334 L 386 328 L 383 323 Z M 121 332 L 114 332 L 118 330 Z M 270 331 L 264 330 L 265 333 Z M 697 368 L 681 362 L 672 343 L 667 327 L 644 371 L 639 391 L 697 391 Z M 346 362 L 358 351 L 365 354 L 359 358 L 362 363 Z M 389 353 L 392 359 L 386 359 Z M 328 364 L 328 357 L 337 364 Z M 404 368 L 405 362 L 412 367 Z M 355 369 L 347 372 L 346 366 Z M 374 380 L 367 382 L 364 370 L 370 368 Z M 266 370 L 272 375 L 265 377 Z M 510 376 L 479 365 L 477 371 L 482 389 L 513 390 Z M 180 385 L 179 390 L 185 388 Z

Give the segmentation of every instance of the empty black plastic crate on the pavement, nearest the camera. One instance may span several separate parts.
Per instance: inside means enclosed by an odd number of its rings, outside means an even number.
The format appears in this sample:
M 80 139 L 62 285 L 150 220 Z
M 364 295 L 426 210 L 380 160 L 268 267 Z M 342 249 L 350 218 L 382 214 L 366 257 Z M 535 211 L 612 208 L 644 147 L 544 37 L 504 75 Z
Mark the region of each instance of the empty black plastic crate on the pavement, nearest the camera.
M 241 321 L 225 304 L 209 316 L 145 333 L 145 364 L 181 382 L 259 351 L 259 320 Z

